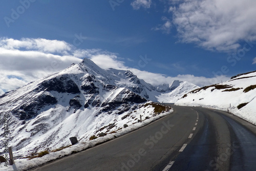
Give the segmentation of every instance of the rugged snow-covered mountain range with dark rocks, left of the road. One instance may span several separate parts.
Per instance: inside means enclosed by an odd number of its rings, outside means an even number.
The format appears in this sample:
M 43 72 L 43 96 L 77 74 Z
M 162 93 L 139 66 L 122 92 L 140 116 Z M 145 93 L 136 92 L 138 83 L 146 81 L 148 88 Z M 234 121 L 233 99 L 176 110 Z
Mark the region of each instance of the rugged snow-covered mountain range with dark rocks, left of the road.
M 88 140 L 116 132 L 124 123 L 136 123 L 140 114 L 152 117 L 156 111 L 148 100 L 162 101 L 164 96 L 168 101 L 172 93 L 177 98 L 193 88 L 181 81 L 154 87 L 130 71 L 103 70 L 86 58 L 0 96 L 0 148 L 5 134 L 17 157 L 68 145 L 73 136 Z

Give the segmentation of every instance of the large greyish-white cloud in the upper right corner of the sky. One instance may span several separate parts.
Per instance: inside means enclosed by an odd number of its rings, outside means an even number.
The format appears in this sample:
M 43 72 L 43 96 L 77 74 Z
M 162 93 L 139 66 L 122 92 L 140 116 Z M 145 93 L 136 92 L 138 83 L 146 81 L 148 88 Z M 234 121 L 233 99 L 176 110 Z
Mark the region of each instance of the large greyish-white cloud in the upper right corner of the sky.
M 254 0 L 186 0 L 170 11 L 182 42 L 230 52 L 256 39 L 255 6 Z

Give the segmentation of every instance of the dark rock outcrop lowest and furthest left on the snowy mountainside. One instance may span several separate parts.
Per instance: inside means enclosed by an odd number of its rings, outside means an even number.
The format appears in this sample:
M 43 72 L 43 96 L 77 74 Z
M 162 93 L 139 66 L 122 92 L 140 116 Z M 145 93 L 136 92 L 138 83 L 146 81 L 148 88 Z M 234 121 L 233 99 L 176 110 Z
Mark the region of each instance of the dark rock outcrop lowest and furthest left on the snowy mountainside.
M 56 104 L 58 101 L 50 95 L 40 95 L 32 103 L 24 104 L 12 113 L 19 117 L 20 120 L 29 120 L 38 115 L 38 111 L 47 105 Z

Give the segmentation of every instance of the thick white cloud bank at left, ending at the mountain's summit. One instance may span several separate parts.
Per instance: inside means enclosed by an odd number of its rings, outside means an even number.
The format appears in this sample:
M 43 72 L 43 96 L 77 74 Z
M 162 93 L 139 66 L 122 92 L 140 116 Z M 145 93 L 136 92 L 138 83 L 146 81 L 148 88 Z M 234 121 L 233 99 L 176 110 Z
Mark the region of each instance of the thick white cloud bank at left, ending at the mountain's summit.
M 0 38 L 0 90 L 10 91 L 81 61 L 65 41 Z

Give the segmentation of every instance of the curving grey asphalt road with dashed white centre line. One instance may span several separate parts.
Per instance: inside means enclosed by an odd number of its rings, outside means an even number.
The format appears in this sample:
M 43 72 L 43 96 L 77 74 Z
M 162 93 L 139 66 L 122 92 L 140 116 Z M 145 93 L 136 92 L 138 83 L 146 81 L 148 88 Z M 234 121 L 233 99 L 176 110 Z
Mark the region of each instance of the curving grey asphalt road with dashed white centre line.
M 33 170 L 256 170 L 256 126 L 217 110 L 172 108 L 137 131 Z

